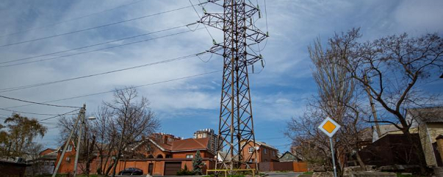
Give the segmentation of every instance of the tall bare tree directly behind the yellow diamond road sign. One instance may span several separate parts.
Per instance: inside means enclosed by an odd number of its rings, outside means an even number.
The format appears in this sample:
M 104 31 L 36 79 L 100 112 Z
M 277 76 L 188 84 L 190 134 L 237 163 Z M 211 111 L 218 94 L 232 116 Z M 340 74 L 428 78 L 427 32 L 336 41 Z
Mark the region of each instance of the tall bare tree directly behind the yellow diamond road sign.
M 326 117 L 333 118 L 342 125 L 342 128 L 334 136 L 334 151 L 338 161 L 338 172 L 345 167 L 345 156 L 358 149 L 358 142 L 362 133 L 363 117 L 368 116 L 365 109 L 359 104 L 359 91 L 356 90 L 354 80 L 350 79 L 350 73 L 340 64 L 341 53 L 336 53 L 333 43 L 328 43 L 325 50 L 319 39 L 314 41 L 314 46 L 309 46 L 309 55 L 314 63 L 312 75 L 318 88 L 318 97 L 311 100 L 308 110 L 300 118 L 293 118 L 289 122 L 289 133 L 294 142 L 299 145 L 305 144 L 308 156 L 312 155 L 312 150 L 316 149 L 316 154 L 330 156 L 328 138 L 318 131 L 317 126 Z M 345 53 L 346 54 L 346 53 Z M 318 153 L 320 150 L 321 153 Z M 357 162 L 362 169 L 365 169 L 363 161 L 356 154 Z M 311 156 L 312 160 L 318 161 L 318 157 Z M 331 163 L 329 163 L 331 164 Z M 323 164 L 325 165 L 325 164 Z

